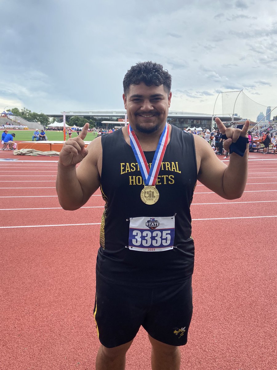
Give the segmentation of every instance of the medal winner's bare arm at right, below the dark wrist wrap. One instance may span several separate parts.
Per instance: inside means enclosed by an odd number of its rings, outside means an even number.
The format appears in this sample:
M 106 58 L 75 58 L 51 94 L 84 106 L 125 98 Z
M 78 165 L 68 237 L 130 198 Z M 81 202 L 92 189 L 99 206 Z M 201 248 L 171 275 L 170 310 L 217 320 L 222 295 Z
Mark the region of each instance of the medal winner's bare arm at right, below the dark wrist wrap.
M 247 180 L 247 155 L 230 154 L 229 166 L 220 161 L 211 145 L 195 136 L 198 180 L 225 199 L 237 199 L 243 194 Z

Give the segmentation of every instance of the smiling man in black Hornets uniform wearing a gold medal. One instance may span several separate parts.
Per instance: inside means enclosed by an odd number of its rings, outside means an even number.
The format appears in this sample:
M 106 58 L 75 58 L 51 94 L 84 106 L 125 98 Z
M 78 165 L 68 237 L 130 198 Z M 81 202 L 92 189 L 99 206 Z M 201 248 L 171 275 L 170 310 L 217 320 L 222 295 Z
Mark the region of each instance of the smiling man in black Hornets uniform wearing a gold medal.
M 240 153 L 227 167 L 208 142 L 167 124 L 171 75 L 162 65 L 136 64 L 123 88 L 129 126 L 88 148 L 88 124 L 69 139 L 59 155 L 57 193 L 67 210 L 83 206 L 99 186 L 106 201 L 96 262 L 96 370 L 124 369 L 140 326 L 152 346 L 152 369 L 177 370 L 192 316 L 194 187 L 198 179 L 225 199 L 242 195 L 249 121 L 242 130 L 226 129 L 216 118 L 226 149 Z

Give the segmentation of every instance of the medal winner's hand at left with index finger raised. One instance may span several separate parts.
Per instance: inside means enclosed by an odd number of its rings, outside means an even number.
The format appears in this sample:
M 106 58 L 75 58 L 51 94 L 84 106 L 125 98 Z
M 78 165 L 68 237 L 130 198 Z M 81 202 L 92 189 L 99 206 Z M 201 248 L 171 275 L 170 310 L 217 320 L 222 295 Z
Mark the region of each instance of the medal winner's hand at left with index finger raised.
M 64 167 L 75 166 L 88 154 L 84 139 L 88 134 L 89 123 L 87 122 L 76 138 L 68 139 L 59 154 L 59 163 Z

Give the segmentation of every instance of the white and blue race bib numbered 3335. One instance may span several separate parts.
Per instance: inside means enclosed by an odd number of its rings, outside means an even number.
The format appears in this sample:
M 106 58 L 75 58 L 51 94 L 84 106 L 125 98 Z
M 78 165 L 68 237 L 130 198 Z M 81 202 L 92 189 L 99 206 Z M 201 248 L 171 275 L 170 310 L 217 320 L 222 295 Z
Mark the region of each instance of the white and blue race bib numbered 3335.
M 161 252 L 174 248 L 175 217 L 130 218 L 130 250 Z

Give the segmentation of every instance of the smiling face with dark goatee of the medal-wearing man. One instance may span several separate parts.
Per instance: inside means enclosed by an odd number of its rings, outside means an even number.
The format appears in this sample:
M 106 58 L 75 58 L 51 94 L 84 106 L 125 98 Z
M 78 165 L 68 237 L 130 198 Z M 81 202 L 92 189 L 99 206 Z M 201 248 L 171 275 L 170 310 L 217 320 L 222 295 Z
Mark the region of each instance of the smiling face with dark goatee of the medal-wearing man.
M 171 92 L 164 86 L 147 86 L 143 82 L 131 85 L 127 95 L 123 94 L 124 107 L 133 129 L 151 134 L 165 125 L 170 107 Z

